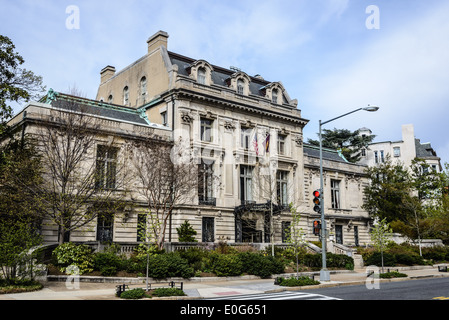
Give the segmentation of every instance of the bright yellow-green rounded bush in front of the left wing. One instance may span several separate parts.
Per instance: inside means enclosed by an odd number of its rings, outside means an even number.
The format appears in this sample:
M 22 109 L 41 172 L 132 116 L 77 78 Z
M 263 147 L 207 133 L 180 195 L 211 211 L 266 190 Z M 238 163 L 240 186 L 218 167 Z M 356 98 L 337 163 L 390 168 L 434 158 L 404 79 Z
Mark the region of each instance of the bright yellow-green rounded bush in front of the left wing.
M 53 250 L 53 256 L 62 272 L 65 272 L 66 268 L 71 265 L 77 266 L 80 274 L 93 271 L 92 249 L 87 245 L 63 243 Z

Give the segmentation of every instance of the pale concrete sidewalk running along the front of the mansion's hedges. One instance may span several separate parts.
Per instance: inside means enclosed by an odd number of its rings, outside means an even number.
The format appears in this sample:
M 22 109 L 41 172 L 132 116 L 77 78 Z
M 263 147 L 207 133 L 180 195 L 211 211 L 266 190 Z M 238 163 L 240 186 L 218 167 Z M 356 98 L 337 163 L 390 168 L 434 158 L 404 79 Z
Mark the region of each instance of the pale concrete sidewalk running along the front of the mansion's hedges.
M 385 268 L 385 271 L 387 268 Z M 399 272 L 408 275 L 407 278 L 381 279 L 380 281 L 403 281 L 410 279 L 423 279 L 433 277 L 449 277 L 449 272 L 439 272 L 437 267 L 417 266 L 390 268 L 390 270 L 399 270 Z M 303 273 L 312 274 L 312 273 Z M 315 279 L 319 280 L 319 272 L 313 273 Z M 283 277 L 289 277 L 291 274 L 283 274 Z M 281 287 L 274 284 L 274 279 L 260 279 L 255 276 L 231 277 L 231 278 L 192 278 L 190 280 L 174 279 L 182 281 L 184 292 L 187 297 L 170 299 L 203 299 L 212 297 L 224 297 L 239 294 L 259 294 L 264 292 L 276 292 L 285 290 L 308 290 L 317 287 L 341 286 L 341 285 L 364 285 L 367 280 L 366 269 L 355 271 L 339 270 L 331 271 L 330 281 L 323 282 L 317 286 L 308 287 Z M 96 279 L 98 281 L 98 279 Z M 0 300 L 120 300 L 115 296 L 116 286 L 123 284 L 121 279 L 115 279 L 117 282 L 80 282 L 79 289 L 70 289 L 64 281 L 47 281 L 44 289 L 28 293 L 4 294 L 0 295 Z M 133 282 L 133 283 L 132 283 Z M 129 282 L 129 288 L 144 288 L 144 279 L 136 279 Z M 152 287 L 162 286 L 164 283 L 155 284 L 151 282 Z M 166 285 L 166 283 L 165 283 Z

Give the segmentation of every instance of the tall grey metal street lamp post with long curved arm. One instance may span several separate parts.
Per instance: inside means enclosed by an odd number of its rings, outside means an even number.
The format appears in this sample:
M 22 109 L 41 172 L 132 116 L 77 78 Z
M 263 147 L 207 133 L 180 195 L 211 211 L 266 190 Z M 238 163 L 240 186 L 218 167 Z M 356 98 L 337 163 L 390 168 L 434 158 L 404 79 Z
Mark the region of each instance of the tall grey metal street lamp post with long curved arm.
M 323 194 L 324 194 L 324 180 L 323 180 L 323 140 L 322 140 L 322 135 L 321 135 L 321 127 L 323 125 L 325 125 L 326 123 L 329 123 L 331 121 L 343 118 L 347 115 L 350 115 L 354 112 L 360 111 L 360 110 L 364 110 L 364 111 L 369 111 L 369 112 L 375 112 L 377 110 L 379 110 L 379 107 L 375 107 L 375 106 L 370 106 L 368 105 L 368 107 L 365 108 L 359 108 L 356 110 L 353 110 L 351 112 L 345 113 L 341 116 L 338 116 L 336 118 L 327 120 L 322 122 L 320 120 L 319 125 L 320 125 L 320 204 L 321 204 L 321 254 L 322 254 L 322 269 L 320 271 L 320 281 L 330 281 L 330 273 L 327 270 L 327 266 L 326 266 L 326 220 L 324 219 L 324 201 L 323 201 Z

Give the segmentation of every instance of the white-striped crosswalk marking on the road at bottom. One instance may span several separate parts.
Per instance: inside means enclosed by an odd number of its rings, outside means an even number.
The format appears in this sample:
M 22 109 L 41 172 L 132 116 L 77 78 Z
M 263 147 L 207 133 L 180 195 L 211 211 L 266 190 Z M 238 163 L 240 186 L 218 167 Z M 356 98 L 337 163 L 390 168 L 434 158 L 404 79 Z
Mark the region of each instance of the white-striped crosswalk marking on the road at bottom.
M 340 300 L 333 297 L 323 296 L 321 294 L 296 292 L 296 291 L 282 291 L 275 293 L 255 293 L 242 294 L 226 297 L 207 298 L 207 300 Z

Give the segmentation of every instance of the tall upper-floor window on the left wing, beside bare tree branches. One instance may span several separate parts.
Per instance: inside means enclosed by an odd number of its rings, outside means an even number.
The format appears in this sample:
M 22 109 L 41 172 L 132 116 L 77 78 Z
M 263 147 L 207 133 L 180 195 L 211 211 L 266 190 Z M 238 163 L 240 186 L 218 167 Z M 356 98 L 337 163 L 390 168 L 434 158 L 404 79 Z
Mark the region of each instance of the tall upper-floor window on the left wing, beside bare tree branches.
M 97 146 L 96 189 L 115 189 L 118 148 Z

